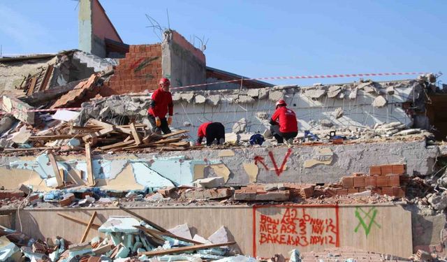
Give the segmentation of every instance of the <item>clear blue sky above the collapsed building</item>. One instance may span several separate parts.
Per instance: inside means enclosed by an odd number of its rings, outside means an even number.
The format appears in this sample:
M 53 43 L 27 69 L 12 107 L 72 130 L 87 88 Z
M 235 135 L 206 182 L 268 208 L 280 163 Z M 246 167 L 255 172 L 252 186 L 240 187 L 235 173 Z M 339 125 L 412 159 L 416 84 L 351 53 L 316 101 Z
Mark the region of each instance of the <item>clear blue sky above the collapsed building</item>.
M 430 71 L 447 73 L 447 1 L 102 0 L 125 43 L 159 42 L 145 14 L 186 39 L 209 38 L 207 65 L 251 78 Z M 73 0 L 2 0 L 3 54 L 78 47 Z M 198 41 L 196 41 L 198 43 Z M 374 80 L 401 79 L 372 78 Z M 409 77 L 409 78 L 412 78 Z M 309 85 L 331 80 L 277 80 Z M 447 78 L 441 77 L 447 84 Z

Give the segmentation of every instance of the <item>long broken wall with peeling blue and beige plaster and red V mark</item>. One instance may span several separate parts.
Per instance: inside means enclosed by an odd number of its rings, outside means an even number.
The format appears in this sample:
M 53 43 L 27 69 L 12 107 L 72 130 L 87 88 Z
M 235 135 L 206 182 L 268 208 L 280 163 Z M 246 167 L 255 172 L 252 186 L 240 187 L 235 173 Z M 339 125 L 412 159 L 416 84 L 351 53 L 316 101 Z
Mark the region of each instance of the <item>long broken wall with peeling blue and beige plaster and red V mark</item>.
M 425 140 L 410 140 L 315 147 L 191 150 L 135 154 L 131 159 L 126 155 L 102 154 L 94 156 L 93 170 L 98 187 L 117 190 L 193 185 L 194 180 L 216 176 L 223 177 L 226 185 L 233 186 L 253 182 L 312 184 L 338 182 L 347 174 L 369 173 L 369 166 L 388 163 L 406 163 L 409 175 L 427 175 L 434 171 L 438 156 L 437 146 L 426 147 Z M 59 168 L 65 170 L 67 180 L 78 177 L 87 181 L 83 155 L 59 157 L 57 161 Z M 1 157 L 0 183 L 6 189 L 15 189 L 29 178 L 29 170 L 34 170 L 34 183 L 45 182 L 43 184 L 49 190 L 54 179 L 48 180 L 52 175 L 50 169 L 43 168 L 48 166 L 47 163 L 45 155 L 36 159 Z

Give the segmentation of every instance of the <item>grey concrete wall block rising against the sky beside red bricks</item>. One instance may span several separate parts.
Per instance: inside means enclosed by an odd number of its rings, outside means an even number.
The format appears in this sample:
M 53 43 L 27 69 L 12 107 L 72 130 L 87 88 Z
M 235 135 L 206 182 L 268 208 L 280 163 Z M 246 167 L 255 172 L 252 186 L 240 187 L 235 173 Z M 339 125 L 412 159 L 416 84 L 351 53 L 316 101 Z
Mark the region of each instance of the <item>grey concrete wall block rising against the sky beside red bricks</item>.
M 165 31 L 161 43 L 163 76 L 170 78 L 172 87 L 198 85 L 206 81 L 205 54 L 176 31 Z

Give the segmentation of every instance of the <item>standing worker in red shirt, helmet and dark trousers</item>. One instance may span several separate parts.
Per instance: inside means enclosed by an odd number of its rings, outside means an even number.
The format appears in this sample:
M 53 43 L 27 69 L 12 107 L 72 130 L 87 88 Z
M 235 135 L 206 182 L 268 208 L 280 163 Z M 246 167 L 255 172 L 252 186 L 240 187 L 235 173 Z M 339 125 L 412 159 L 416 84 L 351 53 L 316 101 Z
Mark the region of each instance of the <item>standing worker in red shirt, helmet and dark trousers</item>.
M 161 78 L 159 89 L 152 94 L 147 117 L 152 125 L 152 131 L 156 133 L 170 133 L 169 126 L 173 122 L 173 95 L 169 92 L 170 82 L 168 78 Z M 166 114 L 169 117 L 166 119 Z

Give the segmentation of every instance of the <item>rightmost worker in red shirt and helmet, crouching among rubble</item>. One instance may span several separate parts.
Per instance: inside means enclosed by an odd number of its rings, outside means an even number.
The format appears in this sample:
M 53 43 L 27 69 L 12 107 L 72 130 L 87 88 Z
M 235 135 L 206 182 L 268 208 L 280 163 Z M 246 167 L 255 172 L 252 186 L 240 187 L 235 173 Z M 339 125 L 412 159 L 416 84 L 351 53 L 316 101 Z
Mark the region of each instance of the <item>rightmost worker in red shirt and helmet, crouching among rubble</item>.
M 286 101 L 280 99 L 277 101 L 277 108 L 270 119 L 270 131 L 277 139 L 278 144 L 284 143 L 284 139 L 288 143 L 293 143 L 293 138 L 298 135 L 298 121 L 293 110 L 287 108 Z

